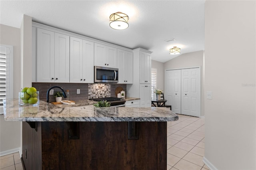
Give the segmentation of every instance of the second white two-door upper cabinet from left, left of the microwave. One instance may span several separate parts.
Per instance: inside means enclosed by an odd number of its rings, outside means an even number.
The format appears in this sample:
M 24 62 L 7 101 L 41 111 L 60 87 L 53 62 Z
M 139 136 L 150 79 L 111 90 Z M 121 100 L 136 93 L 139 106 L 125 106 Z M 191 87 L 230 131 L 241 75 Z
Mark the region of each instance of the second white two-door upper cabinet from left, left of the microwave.
M 70 37 L 70 83 L 93 83 L 94 43 Z

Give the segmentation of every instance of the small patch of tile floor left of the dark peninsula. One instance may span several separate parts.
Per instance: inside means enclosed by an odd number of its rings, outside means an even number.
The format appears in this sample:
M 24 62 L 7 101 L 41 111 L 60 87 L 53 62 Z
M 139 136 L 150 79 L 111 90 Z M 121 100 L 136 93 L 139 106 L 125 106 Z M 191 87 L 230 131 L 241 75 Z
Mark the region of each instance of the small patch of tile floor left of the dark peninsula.
M 0 157 L 1 170 L 23 170 L 19 152 Z

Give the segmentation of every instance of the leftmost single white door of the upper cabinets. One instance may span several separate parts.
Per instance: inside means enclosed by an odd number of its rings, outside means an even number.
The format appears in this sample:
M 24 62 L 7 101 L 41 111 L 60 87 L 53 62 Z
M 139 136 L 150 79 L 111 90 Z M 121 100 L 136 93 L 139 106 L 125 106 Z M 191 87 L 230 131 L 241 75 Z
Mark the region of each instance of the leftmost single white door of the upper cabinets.
M 54 32 L 37 29 L 37 82 L 54 82 Z

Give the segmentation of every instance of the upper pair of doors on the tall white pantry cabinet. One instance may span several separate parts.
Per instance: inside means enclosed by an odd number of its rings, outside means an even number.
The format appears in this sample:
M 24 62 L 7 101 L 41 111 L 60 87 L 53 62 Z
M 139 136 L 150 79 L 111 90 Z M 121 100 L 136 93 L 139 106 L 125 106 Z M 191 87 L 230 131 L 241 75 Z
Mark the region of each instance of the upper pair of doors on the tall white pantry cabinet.
M 151 83 L 151 55 L 140 51 L 140 83 Z

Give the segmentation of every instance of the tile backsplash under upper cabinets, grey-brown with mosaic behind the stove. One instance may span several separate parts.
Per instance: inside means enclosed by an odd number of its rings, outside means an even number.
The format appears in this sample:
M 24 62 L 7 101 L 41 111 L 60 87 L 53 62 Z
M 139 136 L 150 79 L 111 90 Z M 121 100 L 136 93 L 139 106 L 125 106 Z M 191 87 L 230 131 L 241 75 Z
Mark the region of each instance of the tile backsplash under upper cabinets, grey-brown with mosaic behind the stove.
M 60 86 L 70 92 L 70 100 L 85 100 L 99 97 L 116 97 L 115 90 L 117 87 L 122 87 L 126 92 L 126 84 L 104 84 L 104 83 L 32 83 L 39 91 L 40 100 L 46 101 L 47 90 L 52 86 Z M 80 89 L 80 94 L 76 94 L 76 89 Z M 54 88 L 54 92 L 60 91 Z M 49 101 L 54 102 L 53 95 L 49 95 Z

